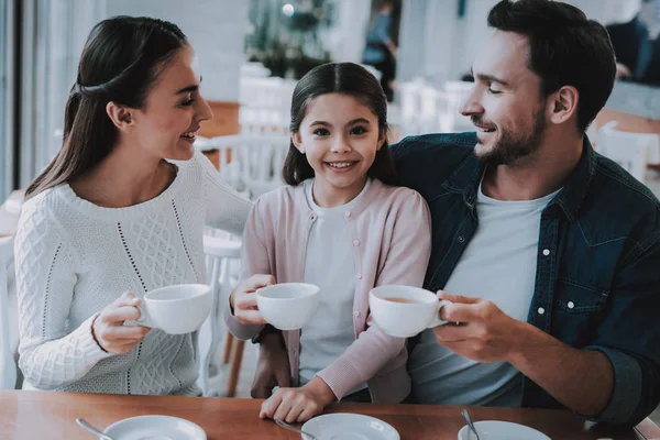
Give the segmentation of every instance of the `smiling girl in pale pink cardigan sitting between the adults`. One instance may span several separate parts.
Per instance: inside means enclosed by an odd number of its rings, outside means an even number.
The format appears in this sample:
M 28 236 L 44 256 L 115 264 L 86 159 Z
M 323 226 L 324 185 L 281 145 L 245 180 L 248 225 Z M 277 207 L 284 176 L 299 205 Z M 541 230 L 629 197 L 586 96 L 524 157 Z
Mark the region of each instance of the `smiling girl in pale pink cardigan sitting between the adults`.
M 295 388 L 278 389 L 262 417 L 305 421 L 336 399 L 399 403 L 410 392 L 405 340 L 384 334 L 369 315 L 374 286 L 421 286 L 430 255 L 428 207 L 396 187 L 387 145 L 387 101 L 359 65 L 326 64 L 296 86 L 289 186 L 262 196 L 244 232 L 241 283 L 226 309 L 241 339 L 264 319 L 254 290 L 305 282 L 321 305 L 301 331 L 285 332 Z

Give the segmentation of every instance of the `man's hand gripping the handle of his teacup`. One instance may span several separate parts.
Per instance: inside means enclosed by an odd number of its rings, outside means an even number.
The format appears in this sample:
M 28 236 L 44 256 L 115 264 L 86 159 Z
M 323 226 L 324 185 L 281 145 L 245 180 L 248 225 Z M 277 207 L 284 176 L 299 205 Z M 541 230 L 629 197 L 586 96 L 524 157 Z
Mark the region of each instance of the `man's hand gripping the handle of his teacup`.
M 527 322 L 509 317 L 484 299 L 444 292 L 439 293 L 439 297 L 452 302 L 442 307 L 440 318 L 460 322 L 435 328 L 440 345 L 477 362 L 509 361 L 529 327 Z

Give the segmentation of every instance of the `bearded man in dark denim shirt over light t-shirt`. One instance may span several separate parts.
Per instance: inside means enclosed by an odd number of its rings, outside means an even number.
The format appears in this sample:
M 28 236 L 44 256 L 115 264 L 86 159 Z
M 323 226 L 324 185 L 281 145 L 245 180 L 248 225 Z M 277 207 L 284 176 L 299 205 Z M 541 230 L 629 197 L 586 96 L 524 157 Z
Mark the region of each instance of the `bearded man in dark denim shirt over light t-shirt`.
M 636 425 L 660 400 L 660 204 L 584 135 L 613 88 L 609 38 L 547 0 L 503 0 L 488 24 L 462 109 L 477 132 L 394 146 L 431 211 L 426 287 L 455 294 L 440 316 L 460 322 L 411 348 L 414 397 Z M 277 334 L 261 342 L 260 397 L 288 381 Z

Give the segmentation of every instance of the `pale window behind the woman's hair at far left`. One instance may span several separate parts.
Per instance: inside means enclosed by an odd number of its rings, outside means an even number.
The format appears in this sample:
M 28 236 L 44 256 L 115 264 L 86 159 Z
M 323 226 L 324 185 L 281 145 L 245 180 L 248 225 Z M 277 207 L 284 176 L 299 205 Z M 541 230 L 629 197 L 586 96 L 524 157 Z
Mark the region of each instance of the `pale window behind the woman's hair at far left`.
M 7 0 L 0 0 L 7 1 Z M 25 187 L 62 146 L 64 109 L 103 0 L 32 0 L 22 9 L 20 178 Z

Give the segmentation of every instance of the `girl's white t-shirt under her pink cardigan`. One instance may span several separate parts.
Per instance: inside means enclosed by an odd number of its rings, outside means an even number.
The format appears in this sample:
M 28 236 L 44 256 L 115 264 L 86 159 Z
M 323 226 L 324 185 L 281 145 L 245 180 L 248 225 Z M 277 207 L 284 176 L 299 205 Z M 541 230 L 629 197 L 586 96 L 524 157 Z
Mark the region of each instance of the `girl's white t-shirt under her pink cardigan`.
M 364 197 L 371 182 L 346 205 L 321 208 L 311 194 L 314 179 L 305 180 L 309 208 L 318 216 L 309 231 L 305 258 L 305 283 L 320 287 L 320 305 L 300 332 L 300 386 L 332 362 L 355 341 L 353 298 L 355 296 L 355 251 L 344 212 Z M 349 394 L 366 387 L 361 384 Z

